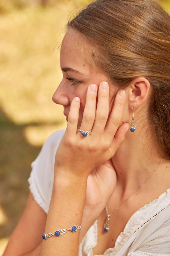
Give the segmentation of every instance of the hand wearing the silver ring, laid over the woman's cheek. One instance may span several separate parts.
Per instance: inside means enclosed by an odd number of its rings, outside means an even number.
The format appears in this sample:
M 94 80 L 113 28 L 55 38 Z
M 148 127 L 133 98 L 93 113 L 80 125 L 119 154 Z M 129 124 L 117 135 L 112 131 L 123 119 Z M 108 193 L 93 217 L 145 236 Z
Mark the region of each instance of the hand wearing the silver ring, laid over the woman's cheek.
M 86 180 L 96 166 L 114 156 L 117 148 L 125 139 L 129 124 L 120 126 L 125 104 L 125 91 L 118 91 L 109 116 L 109 88 L 108 86 L 103 88 L 102 84 L 103 82 L 99 85 L 97 109 L 97 85 L 95 92 L 91 90 L 91 85 L 87 89 L 81 124 L 81 130 L 92 129 L 91 135 L 87 138 L 80 136 L 77 130 L 80 99 L 76 97 L 71 103 L 67 129 L 55 156 L 57 175 L 62 171 L 61 175 L 66 174 L 64 177 L 73 175 Z M 104 84 L 107 85 L 106 82 Z

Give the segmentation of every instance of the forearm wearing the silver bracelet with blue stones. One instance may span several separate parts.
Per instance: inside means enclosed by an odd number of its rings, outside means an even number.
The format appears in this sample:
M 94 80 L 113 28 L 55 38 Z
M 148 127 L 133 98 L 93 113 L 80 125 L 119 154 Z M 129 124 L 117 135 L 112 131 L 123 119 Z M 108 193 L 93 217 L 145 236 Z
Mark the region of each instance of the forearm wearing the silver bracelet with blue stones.
M 86 193 L 86 182 L 78 177 L 55 177 L 53 192 L 44 233 L 55 233 L 61 228 L 81 225 Z M 52 236 L 43 240 L 41 256 L 47 253 L 78 255 L 80 230 L 68 231 L 63 236 Z

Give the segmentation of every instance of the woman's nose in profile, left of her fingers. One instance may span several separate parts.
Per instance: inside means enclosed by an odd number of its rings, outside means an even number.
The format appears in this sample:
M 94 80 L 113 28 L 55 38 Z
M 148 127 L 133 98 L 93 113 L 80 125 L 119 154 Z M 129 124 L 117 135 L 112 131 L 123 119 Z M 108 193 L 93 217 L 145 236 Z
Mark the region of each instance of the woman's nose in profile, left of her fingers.
M 66 90 L 62 81 L 59 84 L 55 93 L 53 94 L 52 100 L 56 104 L 60 104 L 60 105 L 63 105 L 63 106 L 67 106 L 67 105 L 70 104 L 70 100 L 69 100 L 69 97 L 68 97 L 68 94 L 67 94 L 67 90 Z

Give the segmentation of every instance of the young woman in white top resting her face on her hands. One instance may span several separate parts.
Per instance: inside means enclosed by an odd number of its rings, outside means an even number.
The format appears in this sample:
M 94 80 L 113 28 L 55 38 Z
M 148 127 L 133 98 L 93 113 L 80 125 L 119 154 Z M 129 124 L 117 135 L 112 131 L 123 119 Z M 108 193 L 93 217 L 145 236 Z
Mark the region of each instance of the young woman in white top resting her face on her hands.
M 32 164 L 4 256 L 170 255 L 170 16 L 98 0 L 67 28 L 53 96 L 67 129 Z

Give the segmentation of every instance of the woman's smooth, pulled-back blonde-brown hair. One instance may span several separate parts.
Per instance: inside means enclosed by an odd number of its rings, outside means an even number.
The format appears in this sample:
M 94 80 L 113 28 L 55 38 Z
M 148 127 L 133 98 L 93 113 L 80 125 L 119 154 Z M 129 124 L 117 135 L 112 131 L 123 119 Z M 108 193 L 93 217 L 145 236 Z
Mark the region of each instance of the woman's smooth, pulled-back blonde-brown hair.
M 118 87 L 138 76 L 152 85 L 148 120 L 170 159 L 170 16 L 152 0 L 97 0 L 68 21 L 95 49 L 97 68 Z M 97 53 L 97 54 L 96 54 Z

